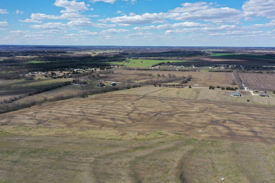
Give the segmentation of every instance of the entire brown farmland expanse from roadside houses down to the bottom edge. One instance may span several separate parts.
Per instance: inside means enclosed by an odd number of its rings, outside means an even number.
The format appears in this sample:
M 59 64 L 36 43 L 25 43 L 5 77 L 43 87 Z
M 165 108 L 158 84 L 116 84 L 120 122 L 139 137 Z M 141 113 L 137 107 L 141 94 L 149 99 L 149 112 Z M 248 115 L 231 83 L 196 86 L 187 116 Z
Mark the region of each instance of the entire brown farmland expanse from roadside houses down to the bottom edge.
M 274 182 L 275 95 L 230 92 L 138 87 L 1 114 L 0 182 Z

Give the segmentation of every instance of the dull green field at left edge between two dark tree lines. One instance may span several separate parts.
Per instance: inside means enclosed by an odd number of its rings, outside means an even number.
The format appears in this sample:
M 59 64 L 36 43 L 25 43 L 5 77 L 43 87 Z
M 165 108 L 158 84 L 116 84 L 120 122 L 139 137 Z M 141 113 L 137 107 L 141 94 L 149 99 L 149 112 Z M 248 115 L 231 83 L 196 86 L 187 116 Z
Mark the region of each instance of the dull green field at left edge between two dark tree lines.
M 52 78 L 41 78 L 38 80 L 25 80 L 25 79 L 14 79 L 14 80 L 0 80 L 0 91 L 11 91 L 11 90 L 38 90 L 45 87 L 49 87 L 58 83 L 64 83 L 64 79 L 52 79 Z M 70 80 L 69 80 L 70 81 Z

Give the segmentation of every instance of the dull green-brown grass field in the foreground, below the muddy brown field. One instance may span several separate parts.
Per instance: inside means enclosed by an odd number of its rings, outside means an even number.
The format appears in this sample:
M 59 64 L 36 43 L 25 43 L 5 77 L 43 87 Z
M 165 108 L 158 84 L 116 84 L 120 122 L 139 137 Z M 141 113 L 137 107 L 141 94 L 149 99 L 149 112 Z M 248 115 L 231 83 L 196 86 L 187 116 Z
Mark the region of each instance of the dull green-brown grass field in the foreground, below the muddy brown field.
M 0 132 L 0 138 L 1 182 L 275 181 L 274 145 L 182 135 L 114 141 Z

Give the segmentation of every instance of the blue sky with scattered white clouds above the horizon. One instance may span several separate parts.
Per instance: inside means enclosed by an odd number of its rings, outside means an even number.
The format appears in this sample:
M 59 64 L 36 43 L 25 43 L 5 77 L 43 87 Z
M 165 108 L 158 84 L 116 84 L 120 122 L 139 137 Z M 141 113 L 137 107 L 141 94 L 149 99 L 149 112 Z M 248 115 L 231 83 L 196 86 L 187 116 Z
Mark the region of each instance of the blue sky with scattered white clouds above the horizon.
M 275 0 L 9 0 L 0 44 L 275 47 Z

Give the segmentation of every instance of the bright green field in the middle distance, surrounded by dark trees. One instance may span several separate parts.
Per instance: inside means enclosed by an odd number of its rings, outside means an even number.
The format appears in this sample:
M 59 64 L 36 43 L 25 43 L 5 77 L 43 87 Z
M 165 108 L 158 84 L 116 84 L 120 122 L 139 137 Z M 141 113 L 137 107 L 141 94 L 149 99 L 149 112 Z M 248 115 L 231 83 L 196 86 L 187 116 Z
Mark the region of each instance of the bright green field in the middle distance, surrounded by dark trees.
M 154 64 L 161 62 L 171 62 L 172 60 L 147 60 L 147 59 L 126 59 L 129 62 L 105 62 L 108 64 L 125 65 L 130 67 L 151 67 Z M 142 62 L 142 63 L 141 63 Z

